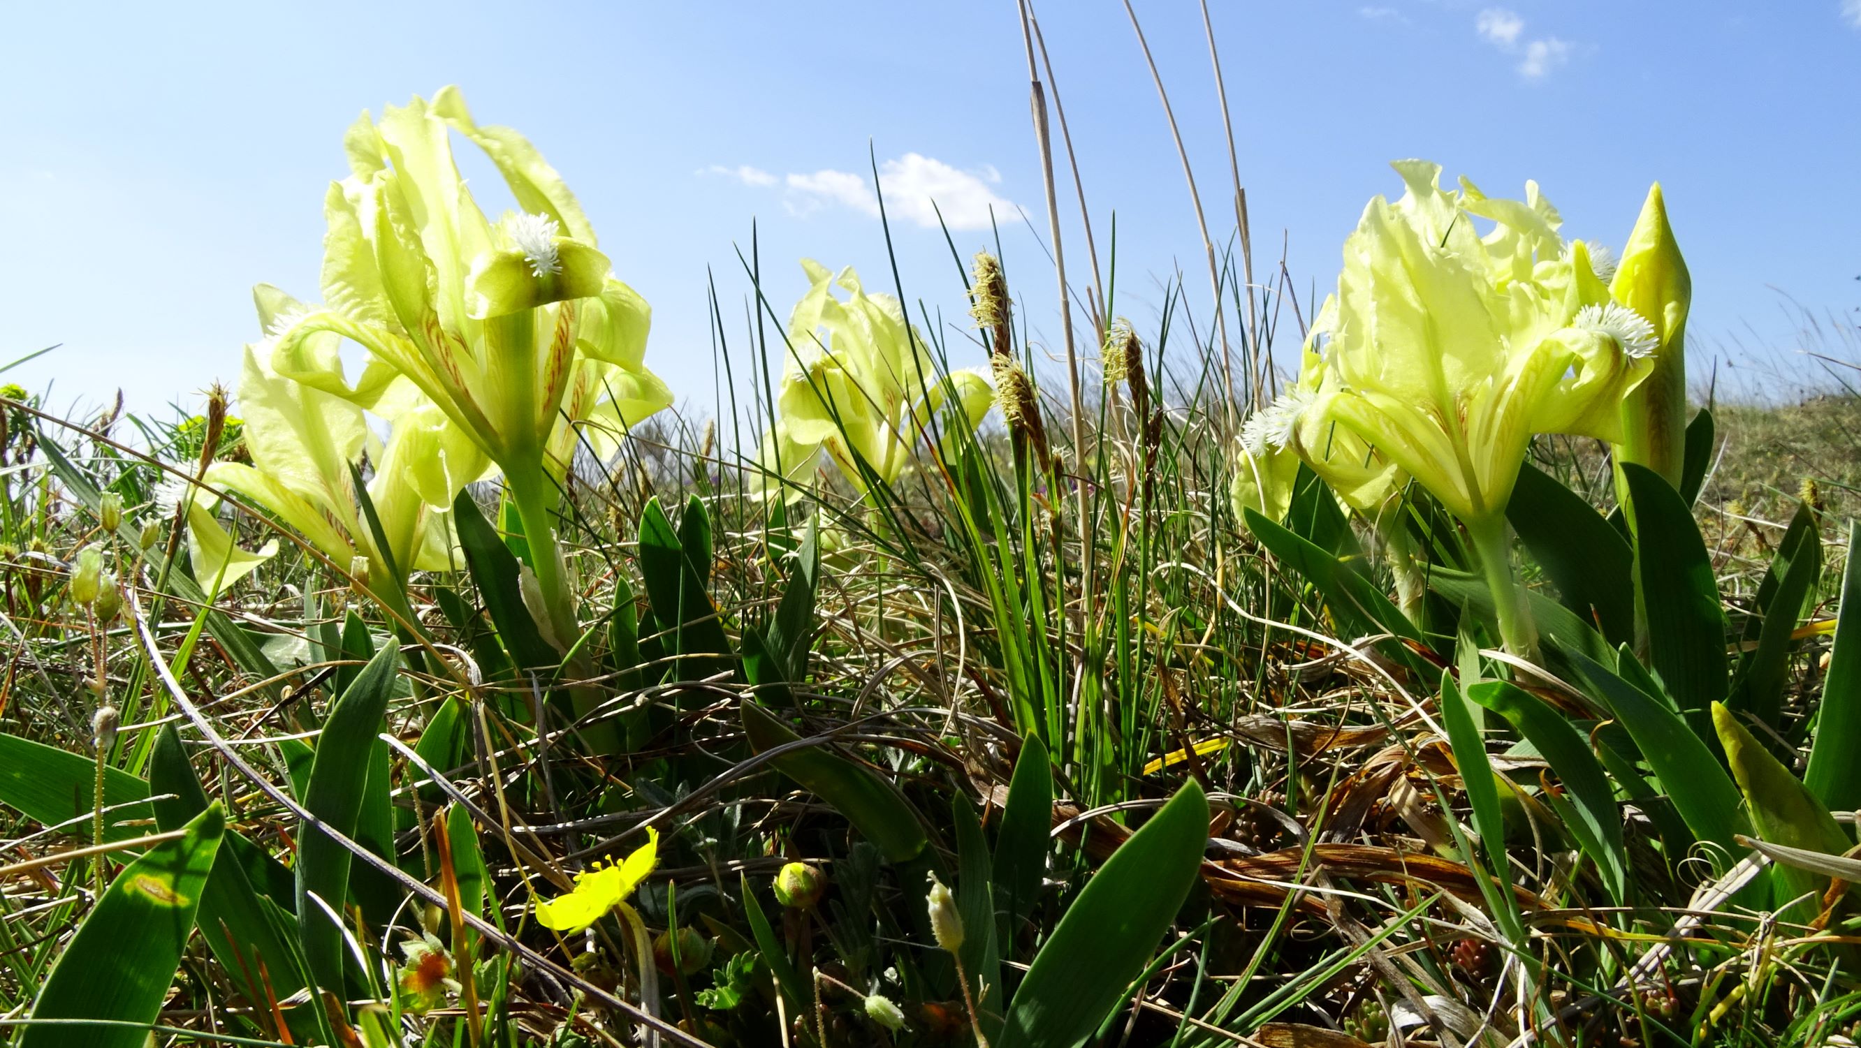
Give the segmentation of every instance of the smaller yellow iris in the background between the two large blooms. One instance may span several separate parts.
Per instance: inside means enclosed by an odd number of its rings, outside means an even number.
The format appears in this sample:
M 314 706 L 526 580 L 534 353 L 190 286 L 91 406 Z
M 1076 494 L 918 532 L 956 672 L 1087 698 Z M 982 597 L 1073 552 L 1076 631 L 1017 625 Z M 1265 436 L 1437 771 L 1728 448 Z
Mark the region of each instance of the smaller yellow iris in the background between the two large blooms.
M 763 439 L 763 469 L 806 482 L 832 458 L 858 490 L 867 475 L 890 484 L 930 437 L 930 417 L 955 393 L 962 424 L 975 428 L 994 398 L 981 369 L 942 374 L 899 300 L 867 294 L 849 266 L 837 275 L 802 259 L 808 294 L 789 318 L 789 359 L 776 396 L 780 421 Z M 839 285 L 850 296 L 834 296 Z M 947 434 L 944 434 L 947 436 Z M 791 488 L 791 493 L 795 490 Z

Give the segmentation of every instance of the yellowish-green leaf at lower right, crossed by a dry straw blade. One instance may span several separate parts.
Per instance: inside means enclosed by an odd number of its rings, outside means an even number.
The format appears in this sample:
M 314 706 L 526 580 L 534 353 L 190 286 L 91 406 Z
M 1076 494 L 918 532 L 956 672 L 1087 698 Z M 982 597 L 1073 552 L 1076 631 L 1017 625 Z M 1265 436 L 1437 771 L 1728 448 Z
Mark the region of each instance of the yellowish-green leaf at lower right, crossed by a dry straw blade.
M 1790 774 L 1770 750 L 1746 732 L 1738 715 L 1723 704 L 1712 705 L 1712 726 L 1720 732 L 1720 745 L 1733 765 L 1738 789 L 1744 791 L 1746 810 L 1751 813 L 1751 828 L 1757 836 L 1785 847 L 1842 854 L 1848 851 L 1848 834 L 1835 815 L 1822 806 L 1809 787 Z M 1803 905 L 1792 907 L 1788 920 L 1809 920 L 1822 910 L 1822 893 L 1829 888 L 1829 879 L 1798 869 L 1794 866 L 1772 866 L 1772 884 L 1775 886 L 1775 905 L 1788 903 L 1800 895 L 1809 895 Z

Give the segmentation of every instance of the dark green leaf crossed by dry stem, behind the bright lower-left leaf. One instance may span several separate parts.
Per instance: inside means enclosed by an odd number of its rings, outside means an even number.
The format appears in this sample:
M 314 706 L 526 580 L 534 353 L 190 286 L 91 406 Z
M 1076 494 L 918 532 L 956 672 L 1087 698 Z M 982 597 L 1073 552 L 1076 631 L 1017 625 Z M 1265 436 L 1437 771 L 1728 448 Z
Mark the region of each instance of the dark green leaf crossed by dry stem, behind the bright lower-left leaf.
M 173 793 L 171 800 L 154 802 L 154 825 L 164 832 L 179 830 L 208 808 L 207 791 L 188 763 L 188 754 L 181 745 L 181 735 L 173 724 L 162 726 L 149 754 L 149 787 L 156 793 Z M 253 858 L 261 864 L 275 862 L 261 849 L 246 843 Z M 292 951 L 279 940 L 277 931 L 266 918 L 259 892 L 248 877 L 240 854 L 231 847 L 233 834 L 223 838 L 220 853 L 214 856 L 212 875 L 201 892 L 199 925 L 214 959 L 225 968 L 227 977 L 240 985 L 246 998 L 264 1001 L 264 987 L 259 985 L 259 962 L 262 961 L 270 975 L 272 992 L 283 1000 L 303 987 L 303 974 L 292 959 Z M 285 879 L 290 871 L 279 867 Z M 266 871 L 259 871 L 266 879 Z M 288 895 L 287 895 L 288 899 Z

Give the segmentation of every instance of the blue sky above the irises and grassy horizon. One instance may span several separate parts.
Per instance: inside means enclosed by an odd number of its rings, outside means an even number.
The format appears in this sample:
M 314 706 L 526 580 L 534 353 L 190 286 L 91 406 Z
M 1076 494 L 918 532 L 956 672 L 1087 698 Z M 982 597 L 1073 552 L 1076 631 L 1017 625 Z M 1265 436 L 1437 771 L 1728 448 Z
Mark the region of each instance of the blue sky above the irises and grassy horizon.
M 1226 147 L 1195 4 L 1139 0 L 1204 203 Z M 1427 156 L 1489 194 L 1537 179 L 1565 233 L 1621 244 L 1660 179 L 1694 272 L 1692 335 L 1792 361 L 1777 289 L 1861 318 L 1861 0 L 1654 4 L 1212 0 L 1256 255 L 1284 240 L 1303 289 L 1332 283 L 1385 162 Z M 1046 0 L 1059 93 L 1100 248 L 1118 222 L 1120 313 L 1143 329 L 1178 266 L 1206 309 L 1200 236 L 1122 4 Z M 916 4 L 35 4 L 0 41 L 0 359 L 54 402 L 136 410 L 233 382 L 257 337 L 249 287 L 315 298 L 322 195 L 344 127 L 460 84 L 480 123 L 530 136 L 581 195 L 616 274 L 655 307 L 649 365 L 713 396 L 715 274 L 741 352 L 759 223 L 778 311 L 795 259 L 890 289 L 871 214 L 884 171 L 906 296 L 964 302 L 964 259 L 1005 208 L 1003 251 L 1037 337 L 1059 344 L 1011 0 Z M 467 168 L 488 210 L 489 171 Z M 1076 274 L 1076 205 L 1063 195 Z M 1228 222 L 1221 222 L 1228 216 Z M 1262 266 L 1265 261 L 1262 261 Z M 1078 277 L 1076 277 L 1078 279 Z M 975 361 L 957 361 L 975 363 Z

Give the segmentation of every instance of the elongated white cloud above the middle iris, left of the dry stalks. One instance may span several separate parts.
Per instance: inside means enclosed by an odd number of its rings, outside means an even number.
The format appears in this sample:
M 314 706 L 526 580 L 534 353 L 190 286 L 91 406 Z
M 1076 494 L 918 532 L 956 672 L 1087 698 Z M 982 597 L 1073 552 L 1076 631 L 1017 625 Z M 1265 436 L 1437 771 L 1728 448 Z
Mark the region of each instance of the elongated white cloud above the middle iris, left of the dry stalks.
M 824 208 L 847 208 L 878 218 L 878 192 L 865 175 L 852 171 L 791 171 L 776 177 L 750 166 L 726 168 L 713 164 L 700 175 L 724 175 L 746 186 L 782 186 L 782 205 L 789 214 L 808 216 Z M 934 156 L 906 153 L 878 166 L 878 188 L 886 197 L 886 214 L 916 225 L 936 229 L 940 222 L 951 229 L 988 229 L 994 218 L 1011 218 L 1020 208 L 996 194 L 1001 171 L 994 166 L 964 171 Z M 942 212 L 942 220 L 938 214 Z

